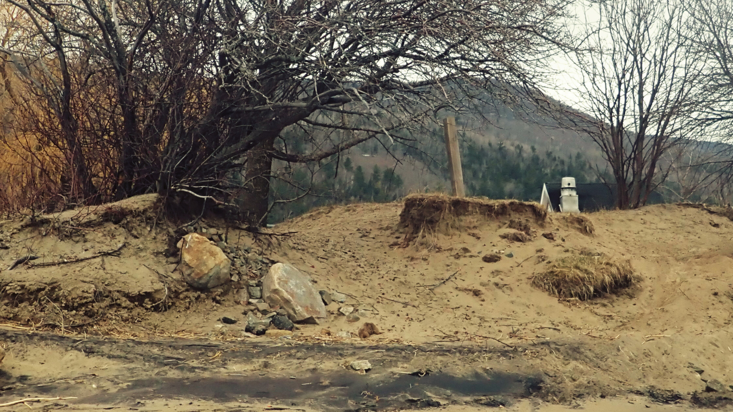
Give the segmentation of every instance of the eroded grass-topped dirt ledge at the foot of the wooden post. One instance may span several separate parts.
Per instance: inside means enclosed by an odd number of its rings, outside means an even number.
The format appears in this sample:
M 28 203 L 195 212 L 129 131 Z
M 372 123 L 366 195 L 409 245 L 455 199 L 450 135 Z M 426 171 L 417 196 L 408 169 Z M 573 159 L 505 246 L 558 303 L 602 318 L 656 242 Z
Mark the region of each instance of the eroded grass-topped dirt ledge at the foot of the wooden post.
M 476 226 L 467 224 L 465 218 L 481 218 L 487 221 L 512 221 L 519 230 L 529 230 L 528 218 L 542 226 L 547 210 L 539 203 L 518 200 L 488 200 L 447 196 L 445 194 L 412 194 L 404 199 L 399 213 L 399 227 L 405 231 L 402 246 L 424 240 L 438 234 L 451 234 Z M 520 220 L 523 218 L 523 220 Z

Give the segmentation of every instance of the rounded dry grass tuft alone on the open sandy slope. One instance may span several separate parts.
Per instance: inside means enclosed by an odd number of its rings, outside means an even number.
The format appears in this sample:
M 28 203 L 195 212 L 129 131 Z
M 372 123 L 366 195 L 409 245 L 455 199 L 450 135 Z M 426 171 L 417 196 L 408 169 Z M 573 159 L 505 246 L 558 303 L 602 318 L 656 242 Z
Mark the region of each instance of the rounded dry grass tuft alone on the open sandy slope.
M 638 282 L 629 261 L 620 265 L 604 256 L 572 255 L 550 264 L 532 279 L 532 285 L 558 298 L 587 301 L 618 293 Z

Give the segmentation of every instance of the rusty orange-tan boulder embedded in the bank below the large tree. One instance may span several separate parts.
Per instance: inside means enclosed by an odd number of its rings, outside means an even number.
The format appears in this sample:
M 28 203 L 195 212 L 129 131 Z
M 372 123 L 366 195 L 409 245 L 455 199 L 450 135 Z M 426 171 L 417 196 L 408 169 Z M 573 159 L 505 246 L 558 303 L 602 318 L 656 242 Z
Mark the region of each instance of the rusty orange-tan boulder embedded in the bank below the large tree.
M 191 233 L 177 246 L 181 251 L 179 270 L 186 283 L 198 289 L 211 289 L 229 282 L 232 262 L 216 243 Z

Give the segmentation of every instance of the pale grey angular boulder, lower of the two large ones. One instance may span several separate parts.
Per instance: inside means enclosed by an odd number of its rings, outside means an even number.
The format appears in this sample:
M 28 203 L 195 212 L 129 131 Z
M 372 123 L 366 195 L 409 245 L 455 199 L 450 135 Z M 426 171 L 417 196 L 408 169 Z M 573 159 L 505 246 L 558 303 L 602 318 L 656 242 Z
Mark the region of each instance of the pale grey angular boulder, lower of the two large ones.
M 280 306 L 293 322 L 317 322 L 326 317 L 320 293 L 293 265 L 276 263 L 262 278 L 262 298 Z

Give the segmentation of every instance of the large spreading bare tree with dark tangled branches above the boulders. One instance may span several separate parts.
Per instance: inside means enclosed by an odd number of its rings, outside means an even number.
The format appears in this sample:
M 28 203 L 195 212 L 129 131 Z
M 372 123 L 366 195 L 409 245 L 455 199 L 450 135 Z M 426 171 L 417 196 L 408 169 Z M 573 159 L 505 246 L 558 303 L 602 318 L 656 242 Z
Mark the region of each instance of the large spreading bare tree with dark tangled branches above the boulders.
M 103 139 L 117 153 L 119 184 L 103 197 L 231 202 L 243 171 L 253 225 L 268 210 L 273 159 L 413 144 L 420 124 L 467 103 L 457 96 L 536 95 L 546 58 L 568 43 L 567 0 L 4 1 L 47 50 L 90 62 L 79 81 L 98 85 L 108 113 L 82 122 L 82 152 Z M 43 71 L 27 69 L 61 65 L 46 51 L 4 53 L 36 78 Z M 72 100 L 83 95 L 72 87 Z M 308 144 L 292 147 L 288 129 Z

